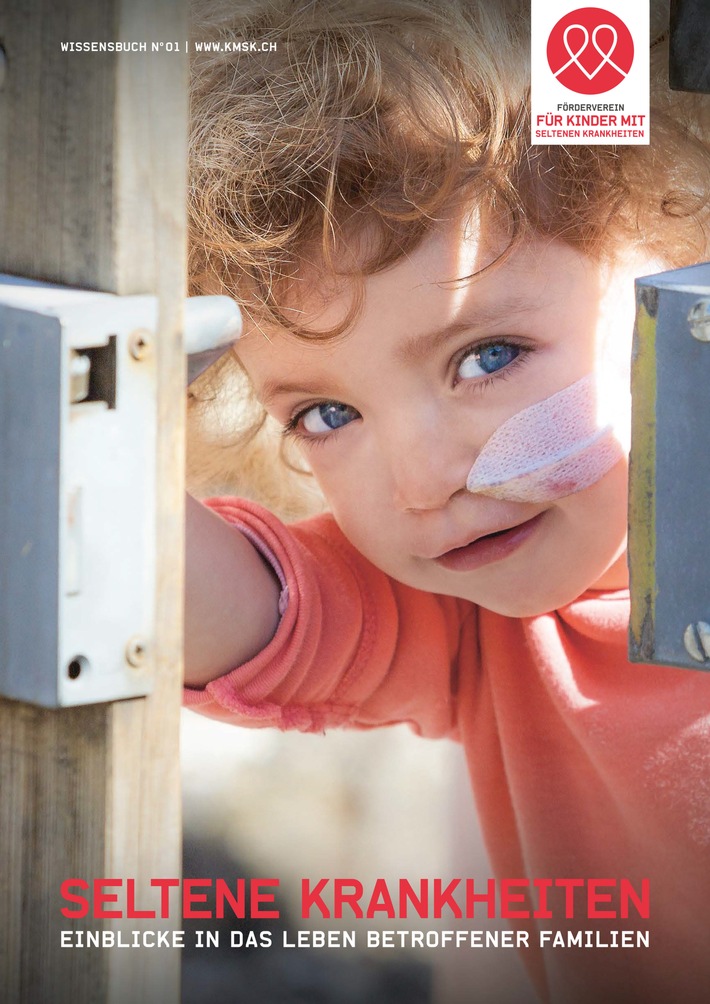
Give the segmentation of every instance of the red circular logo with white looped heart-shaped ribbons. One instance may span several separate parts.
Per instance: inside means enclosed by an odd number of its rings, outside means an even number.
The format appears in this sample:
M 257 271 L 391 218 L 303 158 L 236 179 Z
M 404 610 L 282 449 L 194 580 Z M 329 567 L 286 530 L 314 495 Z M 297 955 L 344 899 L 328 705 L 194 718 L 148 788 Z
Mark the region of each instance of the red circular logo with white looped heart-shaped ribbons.
M 624 21 L 602 7 L 579 7 L 561 17 L 547 39 L 554 76 L 578 94 L 602 94 L 622 80 L 634 62 L 634 39 Z

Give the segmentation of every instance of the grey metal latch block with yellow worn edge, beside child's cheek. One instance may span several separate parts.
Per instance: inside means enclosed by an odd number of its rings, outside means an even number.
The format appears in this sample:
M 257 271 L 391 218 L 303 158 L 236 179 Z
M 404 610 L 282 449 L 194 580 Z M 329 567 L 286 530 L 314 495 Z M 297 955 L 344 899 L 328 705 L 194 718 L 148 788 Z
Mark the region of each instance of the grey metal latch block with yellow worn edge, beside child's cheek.
M 629 654 L 710 670 L 710 263 L 636 290 Z

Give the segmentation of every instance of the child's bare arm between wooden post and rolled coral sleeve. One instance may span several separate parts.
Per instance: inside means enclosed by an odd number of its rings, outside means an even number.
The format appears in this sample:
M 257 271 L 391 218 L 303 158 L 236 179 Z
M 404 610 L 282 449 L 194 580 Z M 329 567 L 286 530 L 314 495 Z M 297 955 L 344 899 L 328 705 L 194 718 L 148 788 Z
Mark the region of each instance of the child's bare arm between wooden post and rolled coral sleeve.
M 204 687 L 271 641 L 279 582 L 234 526 L 188 496 L 185 683 Z

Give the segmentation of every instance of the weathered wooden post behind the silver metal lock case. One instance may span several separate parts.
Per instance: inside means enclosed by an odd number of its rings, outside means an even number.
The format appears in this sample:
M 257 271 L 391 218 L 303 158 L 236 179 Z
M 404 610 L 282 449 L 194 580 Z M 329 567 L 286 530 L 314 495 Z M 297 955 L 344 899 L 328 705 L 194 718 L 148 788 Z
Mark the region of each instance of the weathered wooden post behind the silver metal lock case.
M 184 0 L 6 0 L 0 13 L 0 271 L 160 304 L 155 693 L 58 711 L 0 701 L 0 999 L 13 1004 L 179 999 L 176 950 L 61 949 L 59 890 L 180 875 L 187 37 Z M 179 50 L 152 51 L 161 41 Z

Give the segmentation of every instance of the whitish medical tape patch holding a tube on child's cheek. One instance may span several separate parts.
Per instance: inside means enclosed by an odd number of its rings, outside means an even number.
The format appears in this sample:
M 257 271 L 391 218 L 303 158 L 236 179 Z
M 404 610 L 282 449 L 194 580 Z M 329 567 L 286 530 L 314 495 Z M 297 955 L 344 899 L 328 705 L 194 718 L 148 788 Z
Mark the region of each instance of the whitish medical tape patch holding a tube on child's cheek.
M 625 425 L 630 404 L 623 392 L 616 405 L 607 402 L 589 374 L 513 415 L 485 443 L 467 489 L 513 502 L 551 502 L 596 484 L 628 452 L 617 427 Z M 610 417 L 614 407 L 618 422 Z

